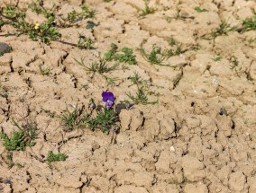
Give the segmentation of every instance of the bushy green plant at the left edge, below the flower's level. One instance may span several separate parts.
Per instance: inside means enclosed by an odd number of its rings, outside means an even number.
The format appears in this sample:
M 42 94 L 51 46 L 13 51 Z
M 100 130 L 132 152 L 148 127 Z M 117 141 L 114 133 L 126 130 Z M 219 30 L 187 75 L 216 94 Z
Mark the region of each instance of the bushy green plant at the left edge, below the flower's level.
M 11 137 L 7 136 L 5 132 L 0 133 L 0 138 L 3 139 L 5 149 L 7 151 L 24 151 L 26 146 L 35 145 L 35 138 L 38 135 L 36 132 L 36 125 L 26 122 L 20 126 L 15 120 L 14 126 L 19 128 L 19 131 L 13 131 Z

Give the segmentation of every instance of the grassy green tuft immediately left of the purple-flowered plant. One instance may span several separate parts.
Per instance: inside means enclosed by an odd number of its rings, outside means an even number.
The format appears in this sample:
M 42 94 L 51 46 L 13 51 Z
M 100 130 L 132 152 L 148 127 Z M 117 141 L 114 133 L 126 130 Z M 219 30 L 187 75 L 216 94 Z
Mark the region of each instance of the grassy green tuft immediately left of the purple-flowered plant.
M 86 127 L 87 115 L 84 115 L 85 107 L 78 108 L 78 104 L 74 105 L 72 110 L 67 110 L 60 116 L 63 125 L 66 127 L 65 131 L 72 131 Z

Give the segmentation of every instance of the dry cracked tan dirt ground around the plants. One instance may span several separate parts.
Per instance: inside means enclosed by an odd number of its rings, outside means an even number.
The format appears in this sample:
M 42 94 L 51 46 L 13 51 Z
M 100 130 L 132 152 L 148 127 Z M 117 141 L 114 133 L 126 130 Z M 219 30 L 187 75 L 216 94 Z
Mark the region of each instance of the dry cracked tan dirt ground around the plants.
M 0 0 L 9 3 L 8 0 Z M 25 7 L 27 0 L 15 1 Z M 79 9 L 82 0 L 44 0 L 57 14 Z M 142 0 L 88 0 L 93 19 L 59 29 L 62 40 L 50 45 L 27 36 L 0 36 L 13 50 L 0 57 L 0 126 L 10 135 L 12 118 L 32 118 L 40 130 L 36 145 L 14 151 L 8 167 L 0 142 L 0 191 L 83 193 L 207 193 L 256 192 L 256 31 L 228 31 L 206 39 L 223 21 L 231 26 L 256 13 L 254 0 L 151 0 L 157 11 L 140 17 Z M 207 12 L 197 12 L 195 7 Z M 28 13 L 28 20 L 41 16 Z M 87 30 L 87 21 L 98 25 Z M 0 35 L 13 31 L 2 27 Z M 78 34 L 91 37 L 96 49 L 72 44 Z M 172 66 L 151 65 L 139 51 L 152 45 L 169 48 L 169 39 L 183 48 L 169 57 Z M 114 84 L 92 75 L 85 64 L 96 61 L 115 43 L 133 48 L 138 64 L 108 73 Z M 219 58 L 218 58 L 219 57 Z M 236 66 L 234 60 L 238 61 Z M 50 68 L 41 75 L 38 66 Z M 129 76 L 138 72 L 150 83 L 149 100 L 120 113 L 120 131 L 108 135 L 88 128 L 65 132 L 59 115 L 90 98 L 101 103 L 103 91 L 114 92 L 116 102 L 127 100 Z M 85 89 L 83 85 L 87 85 Z M 220 112 L 221 110 L 221 112 Z M 54 112 L 49 116 L 48 112 Z M 21 120 L 22 121 L 22 120 Z M 45 162 L 48 151 L 69 156 L 65 162 Z

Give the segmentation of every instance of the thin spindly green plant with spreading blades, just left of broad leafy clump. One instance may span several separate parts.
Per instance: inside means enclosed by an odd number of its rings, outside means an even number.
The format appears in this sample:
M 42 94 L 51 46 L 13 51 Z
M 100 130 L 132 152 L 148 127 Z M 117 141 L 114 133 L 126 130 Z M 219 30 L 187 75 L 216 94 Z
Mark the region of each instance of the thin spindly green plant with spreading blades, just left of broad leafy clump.
M 102 75 L 105 78 L 105 81 L 107 83 L 114 83 L 114 81 L 116 80 L 115 78 L 110 78 L 110 77 L 108 77 L 104 74 L 109 73 L 109 72 L 114 71 L 114 70 L 117 70 L 118 66 L 120 65 L 117 62 L 114 63 L 113 65 L 109 66 L 107 64 L 107 61 L 104 58 L 100 58 L 98 62 L 93 62 L 89 66 L 86 66 L 84 64 L 84 58 L 81 58 L 80 61 L 75 59 L 75 61 L 78 63 L 78 65 L 84 66 L 86 68 L 86 70 L 88 72 L 93 73 L 93 75 L 95 75 L 96 73 L 99 74 L 99 75 Z

